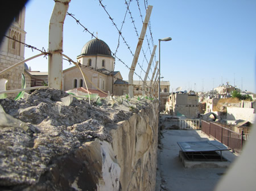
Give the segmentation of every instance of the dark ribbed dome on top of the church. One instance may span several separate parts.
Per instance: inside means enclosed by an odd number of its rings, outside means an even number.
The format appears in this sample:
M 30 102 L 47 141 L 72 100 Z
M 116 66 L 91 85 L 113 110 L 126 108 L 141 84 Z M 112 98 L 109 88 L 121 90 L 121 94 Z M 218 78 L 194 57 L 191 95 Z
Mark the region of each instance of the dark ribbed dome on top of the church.
M 82 47 L 81 54 L 101 54 L 106 56 L 112 56 L 108 44 L 106 44 L 103 40 L 100 39 L 92 39 L 88 41 L 84 45 L 84 47 Z

